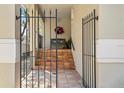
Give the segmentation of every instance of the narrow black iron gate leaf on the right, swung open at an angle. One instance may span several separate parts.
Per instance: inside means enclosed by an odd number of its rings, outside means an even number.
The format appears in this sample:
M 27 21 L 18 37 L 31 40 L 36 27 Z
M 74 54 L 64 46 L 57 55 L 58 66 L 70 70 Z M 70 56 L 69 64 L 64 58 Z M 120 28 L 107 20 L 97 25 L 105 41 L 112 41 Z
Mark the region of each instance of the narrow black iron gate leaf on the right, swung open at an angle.
M 96 20 L 95 9 L 82 18 L 82 81 L 87 88 L 96 87 Z

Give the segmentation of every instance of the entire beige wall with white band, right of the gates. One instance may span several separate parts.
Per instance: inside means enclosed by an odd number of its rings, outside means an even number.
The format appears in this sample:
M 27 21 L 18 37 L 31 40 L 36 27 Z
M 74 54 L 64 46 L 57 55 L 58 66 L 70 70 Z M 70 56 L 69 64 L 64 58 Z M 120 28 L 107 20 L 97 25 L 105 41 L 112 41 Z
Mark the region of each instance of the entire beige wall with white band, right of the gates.
M 97 87 L 124 87 L 124 5 L 100 5 Z

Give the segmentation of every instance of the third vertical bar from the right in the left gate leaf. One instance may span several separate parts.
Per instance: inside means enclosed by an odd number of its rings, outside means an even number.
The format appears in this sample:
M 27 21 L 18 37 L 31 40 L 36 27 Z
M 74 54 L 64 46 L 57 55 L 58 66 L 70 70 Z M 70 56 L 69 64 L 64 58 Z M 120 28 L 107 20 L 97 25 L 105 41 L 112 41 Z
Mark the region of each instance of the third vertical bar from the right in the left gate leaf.
M 45 10 L 44 10 L 44 19 L 45 19 Z M 45 70 L 46 70 L 46 56 L 45 56 L 45 21 L 46 20 L 44 20 L 44 88 L 45 88 L 45 86 L 46 86 L 46 73 L 45 73 Z

